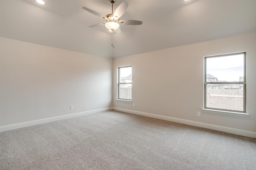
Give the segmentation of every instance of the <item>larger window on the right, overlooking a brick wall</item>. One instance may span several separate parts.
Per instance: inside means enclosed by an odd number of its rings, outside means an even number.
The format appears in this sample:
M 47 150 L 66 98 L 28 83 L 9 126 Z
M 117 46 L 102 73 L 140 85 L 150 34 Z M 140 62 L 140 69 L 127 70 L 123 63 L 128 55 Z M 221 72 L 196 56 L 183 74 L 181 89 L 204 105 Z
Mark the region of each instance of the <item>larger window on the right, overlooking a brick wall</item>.
M 246 114 L 246 52 L 204 57 L 204 109 Z

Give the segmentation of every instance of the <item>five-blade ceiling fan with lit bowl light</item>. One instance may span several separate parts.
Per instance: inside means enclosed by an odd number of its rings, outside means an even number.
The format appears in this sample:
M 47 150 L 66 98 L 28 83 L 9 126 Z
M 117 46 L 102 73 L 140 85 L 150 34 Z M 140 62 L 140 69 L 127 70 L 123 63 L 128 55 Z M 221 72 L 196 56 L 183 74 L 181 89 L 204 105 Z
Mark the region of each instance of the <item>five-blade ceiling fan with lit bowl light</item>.
M 122 2 L 122 4 L 120 4 L 116 8 L 114 13 L 113 13 L 113 4 L 116 2 L 116 0 L 109 0 L 109 2 L 112 4 L 112 13 L 107 14 L 106 16 L 103 16 L 102 14 L 100 14 L 94 10 L 91 10 L 89 8 L 83 7 L 84 10 L 106 20 L 106 22 L 104 22 L 104 23 L 97 23 L 97 24 L 91 25 L 89 27 L 105 25 L 105 27 L 109 31 L 115 31 L 116 33 L 121 33 L 119 24 L 124 24 L 124 25 L 141 25 L 142 24 L 142 21 L 137 21 L 137 20 L 120 20 L 120 17 L 124 14 L 124 12 L 126 11 L 126 9 L 128 7 L 128 4 L 126 2 Z

